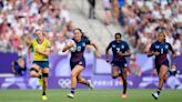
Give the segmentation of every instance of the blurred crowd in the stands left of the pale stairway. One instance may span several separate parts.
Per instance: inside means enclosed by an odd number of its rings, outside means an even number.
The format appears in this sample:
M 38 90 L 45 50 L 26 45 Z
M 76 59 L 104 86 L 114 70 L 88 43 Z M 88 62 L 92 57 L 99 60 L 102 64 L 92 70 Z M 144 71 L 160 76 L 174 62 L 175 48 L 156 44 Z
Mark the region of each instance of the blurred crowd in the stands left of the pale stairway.
M 67 4 L 61 0 L 0 0 L 0 52 L 26 55 L 37 29 L 48 32 L 52 51 L 62 54 L 62 42 L 73 34 Z

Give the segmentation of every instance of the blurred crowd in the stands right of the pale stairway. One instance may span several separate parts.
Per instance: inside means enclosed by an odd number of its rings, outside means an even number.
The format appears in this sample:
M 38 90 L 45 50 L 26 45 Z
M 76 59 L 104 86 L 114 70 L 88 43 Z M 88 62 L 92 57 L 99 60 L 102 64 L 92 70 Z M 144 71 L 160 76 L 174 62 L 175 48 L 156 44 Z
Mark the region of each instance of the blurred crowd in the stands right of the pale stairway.
M 121 23 L 138 52 L 146 52 L 163 31 L 176 54 L 182 53 L 181 0 L 125 0 L 120 10 Z

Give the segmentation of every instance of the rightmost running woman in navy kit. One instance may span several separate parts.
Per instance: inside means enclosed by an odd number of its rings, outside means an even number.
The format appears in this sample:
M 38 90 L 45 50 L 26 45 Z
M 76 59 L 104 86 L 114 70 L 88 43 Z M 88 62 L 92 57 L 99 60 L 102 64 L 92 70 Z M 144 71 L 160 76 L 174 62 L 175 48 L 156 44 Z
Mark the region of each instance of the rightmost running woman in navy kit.
M 152 96 L 156 100 L 161 93 L 161 90 L 163 88 L 163 84 L 165 83 L 168 79 L 168 71 L 169 71 L 169 60 L 166 58 L 166 54 L 169 52 L 172 52 L 173 57 L 174 51 L 172 49 L 172 45 L 168 42 L 165 42 L 165 34 L 164 32 L 159 32 L 158 34 L 158 41 L 153 42 L 150 51 L 148 52 L 148 57 L 155 57 L 155 69 L 159 75 L 159 84 L 158 89 L 152 93 Z

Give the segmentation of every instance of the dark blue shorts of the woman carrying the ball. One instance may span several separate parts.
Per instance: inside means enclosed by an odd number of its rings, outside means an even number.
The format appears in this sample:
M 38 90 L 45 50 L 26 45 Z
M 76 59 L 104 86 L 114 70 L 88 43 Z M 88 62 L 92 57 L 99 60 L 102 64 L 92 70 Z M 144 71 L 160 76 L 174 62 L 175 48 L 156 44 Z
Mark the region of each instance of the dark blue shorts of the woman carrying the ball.
M 77 62 L 70 60 L 71 70 L 73 70 L 75 65 L 82 65 L 83 68 L 85 68 L 85 60 L 81 59 L 80 61 Z

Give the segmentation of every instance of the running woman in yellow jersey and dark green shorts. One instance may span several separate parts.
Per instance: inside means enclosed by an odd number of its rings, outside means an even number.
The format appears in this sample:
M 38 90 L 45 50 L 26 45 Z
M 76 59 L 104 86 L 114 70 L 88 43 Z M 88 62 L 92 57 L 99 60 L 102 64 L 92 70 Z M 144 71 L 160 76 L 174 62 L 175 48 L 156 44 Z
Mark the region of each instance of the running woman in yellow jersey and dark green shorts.
M 33 62 L 30 69 L 32 78 L 39 78 L 42 82 L 42 100 L 48 100 L 47 86 L 49 74 L 49 54 L 50 42 L 46 39 L 46 34 L 41 30 L 36 31 L 37 39 L 33 39 L 29 45 L 29 62 L 31 62 L 31 50 L 33 50 Z

